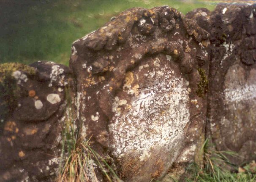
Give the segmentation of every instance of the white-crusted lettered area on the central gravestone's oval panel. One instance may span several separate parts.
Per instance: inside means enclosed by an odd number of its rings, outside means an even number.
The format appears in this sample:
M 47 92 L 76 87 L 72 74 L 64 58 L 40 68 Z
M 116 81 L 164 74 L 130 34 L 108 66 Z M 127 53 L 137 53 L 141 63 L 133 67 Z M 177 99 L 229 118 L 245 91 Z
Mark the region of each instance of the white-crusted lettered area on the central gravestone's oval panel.
M 183 137 L 190 117 L 188 82 L 173 71 L 162 72 L 165 75 L 156 77 L 156 82 L 138 88 L 139 94 L 126 104 L 131 104 L 129 109 L 116 113 L 109 128 L 115 140 L 111 144 L 114 155 L 139 151 L 144 160 L 153 148 L 174 148 Z

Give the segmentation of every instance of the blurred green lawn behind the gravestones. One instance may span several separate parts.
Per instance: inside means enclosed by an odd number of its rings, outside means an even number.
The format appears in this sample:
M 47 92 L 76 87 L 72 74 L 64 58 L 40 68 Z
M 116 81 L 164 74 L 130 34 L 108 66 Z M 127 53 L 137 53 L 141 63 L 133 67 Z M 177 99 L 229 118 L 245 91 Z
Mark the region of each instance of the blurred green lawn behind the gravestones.
M 132 7 L 169 5 L 182 13 L 195 8 L 212 10 L 213 1 L 179 0 L 41 0 L 3 8 L 0 63 L 49 60 L 68 65 L 72 43 L 103 26 L 112 16 Z M 18 11 L 19 10 L 19 11 Z

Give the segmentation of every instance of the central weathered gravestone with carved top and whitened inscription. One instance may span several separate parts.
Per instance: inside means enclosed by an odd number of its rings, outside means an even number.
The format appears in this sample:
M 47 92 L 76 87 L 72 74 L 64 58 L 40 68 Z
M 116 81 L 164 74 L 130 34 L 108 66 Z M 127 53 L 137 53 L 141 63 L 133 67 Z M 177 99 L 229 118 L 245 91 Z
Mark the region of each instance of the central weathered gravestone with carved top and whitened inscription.
M 163 6 L 124 11 L 74 42 L 79 121 L 124 181 L 149 182 L 174 161 L 202 160 L 208 36 Z

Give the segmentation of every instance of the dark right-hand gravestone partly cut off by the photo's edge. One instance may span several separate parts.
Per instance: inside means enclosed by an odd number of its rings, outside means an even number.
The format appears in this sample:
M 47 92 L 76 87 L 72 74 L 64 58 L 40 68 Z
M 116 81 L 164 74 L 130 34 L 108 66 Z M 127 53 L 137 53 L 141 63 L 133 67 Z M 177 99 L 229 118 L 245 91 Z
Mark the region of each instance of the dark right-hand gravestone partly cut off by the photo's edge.
M 256 157 L 256 5 L 220 4 L 188 18 L 210 32 L 208 131 L 218 150 Z M 204 26 L 206 25 L 206 26 Z M 208 28 L 207 28 L 208 27 Z

